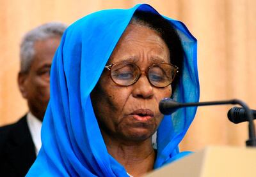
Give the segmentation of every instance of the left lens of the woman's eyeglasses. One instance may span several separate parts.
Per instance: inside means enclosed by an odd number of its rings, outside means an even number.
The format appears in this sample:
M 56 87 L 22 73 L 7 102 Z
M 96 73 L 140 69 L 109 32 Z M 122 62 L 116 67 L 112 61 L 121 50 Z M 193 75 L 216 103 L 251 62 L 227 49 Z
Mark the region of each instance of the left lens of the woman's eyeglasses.
M 111 68 L 111 78 L 118 85 L 128 86 L 134 83 L 140 75 L 140 69 L 131 63 L 116 63 Z

